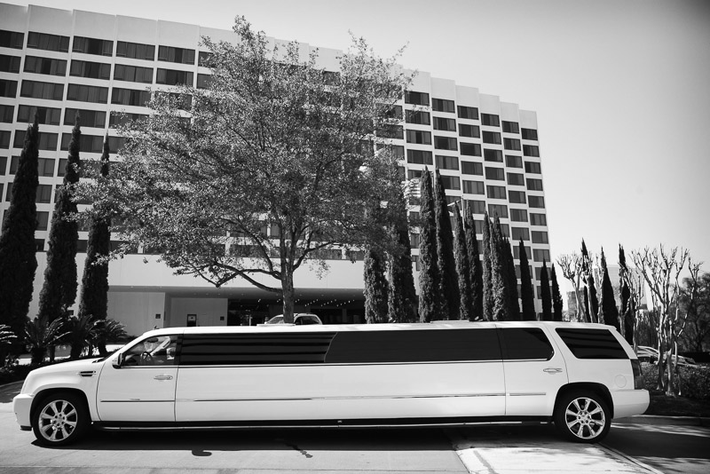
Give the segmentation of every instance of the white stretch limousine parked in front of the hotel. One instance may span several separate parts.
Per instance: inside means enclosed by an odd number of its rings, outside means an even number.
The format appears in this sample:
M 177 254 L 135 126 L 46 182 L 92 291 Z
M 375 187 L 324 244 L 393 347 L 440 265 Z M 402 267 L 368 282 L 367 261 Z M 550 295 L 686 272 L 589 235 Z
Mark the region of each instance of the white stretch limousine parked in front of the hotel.
M 648 404 L 638 359 L 610 326 L 466 321 L 157 329 L 106 359 L 33 370 L 13 400 L 45 446 L 91 426 L 520 421 L 596 442 Z

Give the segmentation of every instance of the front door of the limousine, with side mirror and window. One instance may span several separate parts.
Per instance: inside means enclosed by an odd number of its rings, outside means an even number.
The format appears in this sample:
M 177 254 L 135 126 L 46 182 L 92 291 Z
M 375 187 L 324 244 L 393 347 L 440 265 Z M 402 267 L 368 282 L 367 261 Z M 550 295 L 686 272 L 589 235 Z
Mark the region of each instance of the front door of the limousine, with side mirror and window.
M 106 360 L 99 375 L 102 422 L 174 422 L 177 336 L 153 336 Z

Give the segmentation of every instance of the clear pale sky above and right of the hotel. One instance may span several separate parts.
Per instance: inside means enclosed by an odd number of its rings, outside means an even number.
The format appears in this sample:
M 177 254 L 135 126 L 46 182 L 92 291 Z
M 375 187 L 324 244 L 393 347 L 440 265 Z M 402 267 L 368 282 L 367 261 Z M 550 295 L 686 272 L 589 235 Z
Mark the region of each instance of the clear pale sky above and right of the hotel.
M 710 1 L 2 0 L 229 29 L 345 50 L 538 115 L 552 259 L 682 247 L 710 272 Z M 558 277 L 562 280 L 561 275 Z M 562 283 L 562 281 L 561 281 Z

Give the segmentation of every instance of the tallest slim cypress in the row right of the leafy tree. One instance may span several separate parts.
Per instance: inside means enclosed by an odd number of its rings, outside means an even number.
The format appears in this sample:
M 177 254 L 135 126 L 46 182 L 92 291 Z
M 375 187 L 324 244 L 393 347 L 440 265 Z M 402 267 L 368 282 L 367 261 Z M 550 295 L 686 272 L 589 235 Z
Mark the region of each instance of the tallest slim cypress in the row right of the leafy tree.
M 422 233 L 419 242 L 419 319 L 422 322 L 438 320 L 441 316 L 441 293 L 437 266 L 437 219 L 434 213 L 434 196 L 431 189 L 431 175 L 424 168 L 422 172 L 422 197 L 420 217 Z

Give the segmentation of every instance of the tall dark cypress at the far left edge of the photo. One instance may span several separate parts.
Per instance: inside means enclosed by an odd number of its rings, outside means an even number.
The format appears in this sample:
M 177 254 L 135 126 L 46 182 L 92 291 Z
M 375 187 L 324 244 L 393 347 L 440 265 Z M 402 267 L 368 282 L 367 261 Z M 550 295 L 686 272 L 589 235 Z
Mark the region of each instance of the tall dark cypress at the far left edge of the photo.
M 25 132 L 20 162 L 12 181 L 10 207 L 5 210 L 0 233 L 0 324 L 12 332 L 23 334 L 32 300 L 33 281 L 37 269 L 35 229 L 37 226 L 36 193 L 39 185 L 37 159 L 39 125 L 35 122 Z M 21 351 L 21 336 L 10 348 Z M 0 346 L 0 364 L 5 349 Z

